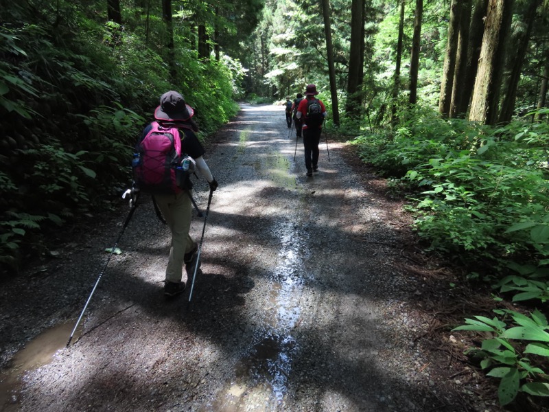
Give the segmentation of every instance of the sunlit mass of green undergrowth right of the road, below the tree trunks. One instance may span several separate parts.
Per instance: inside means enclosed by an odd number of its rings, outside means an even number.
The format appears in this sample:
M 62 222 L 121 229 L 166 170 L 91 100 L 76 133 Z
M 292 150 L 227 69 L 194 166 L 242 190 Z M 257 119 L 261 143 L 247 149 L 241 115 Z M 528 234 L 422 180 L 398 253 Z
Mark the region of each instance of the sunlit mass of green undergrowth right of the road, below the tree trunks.
M 425 110 L 401 118 L 393 136 L 358 139 L 360 153 L 400 179 L 415 229 L 431 249 L 463 256 L 465 264 L 491 260 L 493 272 L 519 253 L 545 255 L 546 128 L 520 122 L 491 129 Z

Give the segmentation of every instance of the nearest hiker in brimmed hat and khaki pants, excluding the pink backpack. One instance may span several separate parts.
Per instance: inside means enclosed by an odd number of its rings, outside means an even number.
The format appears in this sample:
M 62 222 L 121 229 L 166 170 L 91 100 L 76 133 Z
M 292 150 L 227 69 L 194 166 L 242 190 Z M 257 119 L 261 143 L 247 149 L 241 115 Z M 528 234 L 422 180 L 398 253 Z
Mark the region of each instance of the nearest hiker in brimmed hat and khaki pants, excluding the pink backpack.
M 185 104 L 183 95 L 176 91 L 168 91 L 160 98 L 160 106 L 154 111 L 154 119 L 161 128 L 171 128 L 178 131 L 180 138 L 181 154 L 188 155 L 196 163 L 196 169 L 208 181 L 210 190 L 217 189 L 218 182 L 213 176 L 202 155 L 205 150 L 200 144 L 198 137 L 194 134 L 198 126 L 191 117 L 194 110 Z M 152 130 L 154 122 L 143 130 L 141 141 L 145 139 Z M 174 136 L 176 137 L 176 136 Z M 154 201 L 170 227 L 172 233 L 172 244 L 170 246 L 170 257 L 168 258 L 164 282 L 164 295 L 174 297 L 185 291 L 183 278 L 183 265 L 187 271 L 187 277 L 191 277 L 198 261 L 198 244 L 189 236 L 191 229 L 192 185 L 187 190 L 174 190 L 172 194 L 154 194 Z

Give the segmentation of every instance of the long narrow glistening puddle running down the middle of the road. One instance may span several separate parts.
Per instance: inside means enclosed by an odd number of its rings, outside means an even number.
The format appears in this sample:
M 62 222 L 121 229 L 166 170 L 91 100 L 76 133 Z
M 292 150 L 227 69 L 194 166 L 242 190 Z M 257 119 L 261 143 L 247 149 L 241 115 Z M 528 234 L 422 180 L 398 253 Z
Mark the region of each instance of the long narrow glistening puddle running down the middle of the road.
M 270 274 L 270 295 L 264 308 L 264 327 L 235 368 L 235 378 L 207 405 L 206 411 L 274 411 L 288 390 L 292 362 L 299 343 L 292 331 L 299 325 L 299 296 L 305 273 L 307 242 L 298 225 L 284 222 L 272 229 L 280 239 L 279 265 Z

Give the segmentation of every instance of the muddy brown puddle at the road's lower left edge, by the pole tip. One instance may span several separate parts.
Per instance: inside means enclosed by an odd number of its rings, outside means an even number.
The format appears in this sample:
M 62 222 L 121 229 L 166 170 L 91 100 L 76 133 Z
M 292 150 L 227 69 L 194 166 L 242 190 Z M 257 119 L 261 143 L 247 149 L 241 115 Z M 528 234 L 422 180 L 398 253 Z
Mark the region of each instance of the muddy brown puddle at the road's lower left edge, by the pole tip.
M 54 354 L 67 345 L 67 339 L 74 328 L 74 322 L 62 323 L 42 332 L 17 352 L 11 367 L 0 373 L 0 410 L 12 412 L 19 410 L 21 402 L 22 378 L 28 371 L 47 365 Z M 81 328 L 80 328 L 81 329 Z M 75 334 L 74 341 L 82 330 Z

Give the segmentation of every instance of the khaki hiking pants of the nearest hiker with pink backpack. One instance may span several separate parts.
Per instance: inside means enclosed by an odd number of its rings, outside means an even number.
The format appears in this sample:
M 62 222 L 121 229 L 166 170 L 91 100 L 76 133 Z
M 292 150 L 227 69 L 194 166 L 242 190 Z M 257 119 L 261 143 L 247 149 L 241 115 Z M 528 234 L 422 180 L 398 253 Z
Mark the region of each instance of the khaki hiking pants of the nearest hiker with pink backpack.
M 170 231 L 172 232 L 172 245 L 170 258 L 166 267 L 166 282 L 181 282 L 183 277 L 183 258 L 190 252 L 194 242 L 189 236 L 191 229 L 192 203 L 191 196 L 187 192 L 178 194 L 155 195 L 158 205 L 164 216 Z

